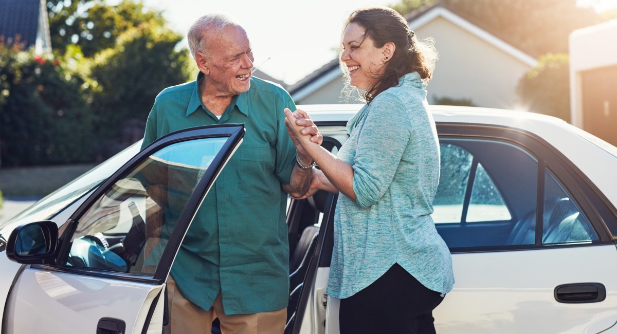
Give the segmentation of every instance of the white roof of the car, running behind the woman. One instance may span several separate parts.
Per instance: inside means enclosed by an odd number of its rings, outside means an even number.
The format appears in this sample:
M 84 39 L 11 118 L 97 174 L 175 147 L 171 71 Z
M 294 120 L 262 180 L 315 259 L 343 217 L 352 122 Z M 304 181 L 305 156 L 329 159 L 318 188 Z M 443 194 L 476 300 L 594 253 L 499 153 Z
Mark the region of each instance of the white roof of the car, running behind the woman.
M 363 104 L 298 105 L 316 122 L 349 121 Z M 617 207 L 617 147 L 552 116 L 497 108 L 429 106 L 436 123 L 481 124 L 531 132 L 565 155 Z

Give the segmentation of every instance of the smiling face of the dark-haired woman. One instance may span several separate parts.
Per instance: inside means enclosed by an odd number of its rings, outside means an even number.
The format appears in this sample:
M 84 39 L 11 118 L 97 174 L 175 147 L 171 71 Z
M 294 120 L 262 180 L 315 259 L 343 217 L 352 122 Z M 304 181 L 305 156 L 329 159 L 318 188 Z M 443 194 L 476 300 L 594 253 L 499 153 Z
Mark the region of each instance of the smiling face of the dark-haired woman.
M 368 90 L 374 84 L 385 65 L 384 47 L 375 47 L 373 39 L 358 23 L 349 23 L 343 33 L 341 61 L 347 66 L 351 84 Z

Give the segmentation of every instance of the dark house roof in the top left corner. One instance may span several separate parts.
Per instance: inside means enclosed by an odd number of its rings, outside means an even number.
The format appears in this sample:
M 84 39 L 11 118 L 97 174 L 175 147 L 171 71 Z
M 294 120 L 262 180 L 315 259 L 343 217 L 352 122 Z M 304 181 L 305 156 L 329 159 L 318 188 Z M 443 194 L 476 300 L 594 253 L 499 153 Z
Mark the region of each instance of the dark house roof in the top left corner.
M 15 36 L 26 46 L 36 43 L 41 0 L 0 0 L 0 35 L 5 43 L 13 43 Z

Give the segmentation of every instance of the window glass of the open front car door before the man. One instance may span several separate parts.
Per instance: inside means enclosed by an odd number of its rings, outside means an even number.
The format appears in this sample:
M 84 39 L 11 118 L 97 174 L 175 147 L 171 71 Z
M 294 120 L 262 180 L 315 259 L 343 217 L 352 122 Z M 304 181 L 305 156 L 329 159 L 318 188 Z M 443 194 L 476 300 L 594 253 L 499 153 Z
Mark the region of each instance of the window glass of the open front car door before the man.
M 178 142 L 138 163 L 78 218 L 67 266 L 154 273 L 180 213 L 225 141 Z

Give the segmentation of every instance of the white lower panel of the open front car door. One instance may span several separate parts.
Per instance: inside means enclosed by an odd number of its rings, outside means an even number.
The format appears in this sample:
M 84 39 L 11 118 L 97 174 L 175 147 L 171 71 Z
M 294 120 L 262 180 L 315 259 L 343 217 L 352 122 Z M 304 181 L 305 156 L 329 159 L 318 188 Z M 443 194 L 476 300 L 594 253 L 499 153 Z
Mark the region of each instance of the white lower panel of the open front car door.
M 15 285 L 19 297 L 17 293 L 10 296 L 9 305 L 14 307 L 7 308 L 8 319 L 17 321 L 7 322 L 5 330 L 6 333 L 95 333 L 93 319 L 104 315 L 126 319 L 126 333 L 141 333 L 144 313 L 147 314 L 163 288 L 164 285 L 27 270 Z

